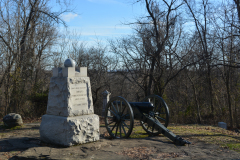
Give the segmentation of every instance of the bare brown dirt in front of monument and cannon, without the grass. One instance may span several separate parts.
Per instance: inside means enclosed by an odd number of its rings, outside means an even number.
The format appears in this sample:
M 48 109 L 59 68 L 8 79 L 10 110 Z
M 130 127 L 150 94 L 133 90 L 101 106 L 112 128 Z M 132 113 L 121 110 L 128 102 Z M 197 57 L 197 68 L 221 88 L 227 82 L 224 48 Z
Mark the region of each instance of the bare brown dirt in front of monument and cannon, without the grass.
M 40 123 L 0 132 L 0 160 L 5 159 L 240 159 L 240 153 L 189 139 L 193 145 L 175 146 L 165 137 L 105 139 L 68 148 L 42 143 Z M 103 135 L 105 127 L 100 127 Z

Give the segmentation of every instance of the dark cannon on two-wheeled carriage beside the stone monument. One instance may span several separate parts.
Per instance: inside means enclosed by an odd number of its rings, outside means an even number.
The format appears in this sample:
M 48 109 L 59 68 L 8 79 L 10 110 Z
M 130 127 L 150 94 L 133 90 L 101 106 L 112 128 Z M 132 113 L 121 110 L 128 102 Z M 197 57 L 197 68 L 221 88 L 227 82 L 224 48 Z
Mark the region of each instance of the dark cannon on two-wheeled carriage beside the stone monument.
M 169 109 L 158 95 L 150 95 L 142 102 L 128 102 L 123 97 L 113 97 L 105 109 L 105 126 L 112 138 L 128 138 L 134 127 L 134 119 L 139 120 L 147 134 L 163 134 L 176 145 L 191 144 L 167 129 Z

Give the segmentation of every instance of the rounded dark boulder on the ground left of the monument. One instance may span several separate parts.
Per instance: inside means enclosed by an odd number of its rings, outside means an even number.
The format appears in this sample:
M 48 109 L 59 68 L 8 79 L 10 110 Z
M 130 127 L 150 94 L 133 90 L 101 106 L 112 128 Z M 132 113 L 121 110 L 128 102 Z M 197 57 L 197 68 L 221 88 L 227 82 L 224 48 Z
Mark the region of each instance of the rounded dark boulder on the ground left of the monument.
M 23 125 L 22 117 L 16 113 L 9 113 L 8 115 L 4 116 L 3 123 L 9 128 Z

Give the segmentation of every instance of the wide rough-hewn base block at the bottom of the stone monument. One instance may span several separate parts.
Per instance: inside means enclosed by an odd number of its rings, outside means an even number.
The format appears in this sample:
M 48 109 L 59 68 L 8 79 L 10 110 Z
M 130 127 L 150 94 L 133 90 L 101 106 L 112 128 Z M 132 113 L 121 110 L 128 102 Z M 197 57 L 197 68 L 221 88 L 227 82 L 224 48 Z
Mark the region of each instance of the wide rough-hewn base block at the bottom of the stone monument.
M 47 143 L 72 146 L 99 140 L 99 117 L 95 114 L 76 117 L 43 115 L 40 139 Z

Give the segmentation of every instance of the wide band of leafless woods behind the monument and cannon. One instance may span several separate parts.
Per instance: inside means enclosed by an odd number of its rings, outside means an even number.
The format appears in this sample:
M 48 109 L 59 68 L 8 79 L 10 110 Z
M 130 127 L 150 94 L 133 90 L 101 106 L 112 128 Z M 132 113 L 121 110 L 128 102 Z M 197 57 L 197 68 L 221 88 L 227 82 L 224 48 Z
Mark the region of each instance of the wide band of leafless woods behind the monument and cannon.
M 0 117 L 44 114 L 50 69 L 69 57 L 88 67 L 97 114 L 104 90 L 129 101 L 157 94 L 173 123 L 239 128 L 239 0 L 132 1 L 145 6 L 127 24 L 133 33 L 89 46 L 59 32 L 64 21 L 50 1 L 0 0 Z

